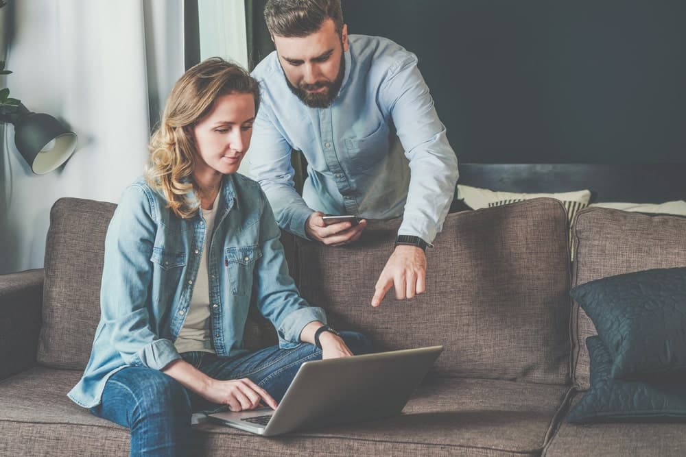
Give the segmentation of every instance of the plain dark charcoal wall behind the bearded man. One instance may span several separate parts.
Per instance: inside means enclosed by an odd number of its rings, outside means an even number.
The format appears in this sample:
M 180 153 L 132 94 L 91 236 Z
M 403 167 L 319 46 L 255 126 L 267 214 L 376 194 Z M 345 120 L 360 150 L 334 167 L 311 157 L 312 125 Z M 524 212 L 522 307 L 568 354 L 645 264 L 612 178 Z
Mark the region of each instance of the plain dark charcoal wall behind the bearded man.
M 263 1 L 254 3 L 257 36 Z M 343 9 L 351 34 L 418 55 L 462 162 L 686 163 L 686 1 L 343 0 Z

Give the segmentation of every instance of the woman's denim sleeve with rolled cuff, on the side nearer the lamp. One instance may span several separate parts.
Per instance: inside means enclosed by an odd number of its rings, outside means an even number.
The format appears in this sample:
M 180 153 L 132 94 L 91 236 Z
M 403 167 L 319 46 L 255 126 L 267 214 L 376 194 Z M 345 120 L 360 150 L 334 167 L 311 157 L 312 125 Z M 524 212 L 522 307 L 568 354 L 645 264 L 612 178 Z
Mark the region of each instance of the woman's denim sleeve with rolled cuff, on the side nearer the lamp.
M 180 358 L 174 343 L 150 325 L 150 258 L 156 235 L 154 201 L 137 185 L 127 188 L 110 221 L 100 288 L 102 322 L 127 365 L 163 369 Z

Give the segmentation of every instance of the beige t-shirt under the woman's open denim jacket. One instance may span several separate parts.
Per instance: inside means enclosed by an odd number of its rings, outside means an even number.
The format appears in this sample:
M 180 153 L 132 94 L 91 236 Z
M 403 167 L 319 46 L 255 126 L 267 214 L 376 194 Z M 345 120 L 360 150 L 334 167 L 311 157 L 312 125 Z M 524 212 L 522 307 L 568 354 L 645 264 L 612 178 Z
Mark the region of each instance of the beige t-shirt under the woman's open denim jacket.
M 217 201 L 221 194 L 222 189 L 220 188 L 211 209 L 203 210 L 200 208 L 202 217 L 205 219 L 205 240 L 202 243 L 200 267 L 198 267 L 198 276 L 193 287 L 193 295 L 191 295 L 191 304 L 189 305 L 186 320 L 183 322 L 178 338 L 174 341 L 174 346 L 179 353 L 188 351 L 215 353 L 212 347 L 212 332 L 210 328 L 210 288 L 209 275 L 207 274 L 207 251 L 209 250 L 210 240 L 214 232 Z

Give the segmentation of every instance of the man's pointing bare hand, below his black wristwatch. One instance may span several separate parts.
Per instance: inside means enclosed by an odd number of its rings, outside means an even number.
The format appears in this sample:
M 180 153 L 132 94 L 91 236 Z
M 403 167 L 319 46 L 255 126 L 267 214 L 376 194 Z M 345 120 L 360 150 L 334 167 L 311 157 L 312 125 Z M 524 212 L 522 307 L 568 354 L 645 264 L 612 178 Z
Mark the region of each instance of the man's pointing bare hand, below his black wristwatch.
M 372 297 L 372 306 L 381 304 L 391 286 L 395 288 L 395 297 L 399 300 L 424 293 L 426 271 L 427 256 L 421 247 L 397 245 L 381 271 Z

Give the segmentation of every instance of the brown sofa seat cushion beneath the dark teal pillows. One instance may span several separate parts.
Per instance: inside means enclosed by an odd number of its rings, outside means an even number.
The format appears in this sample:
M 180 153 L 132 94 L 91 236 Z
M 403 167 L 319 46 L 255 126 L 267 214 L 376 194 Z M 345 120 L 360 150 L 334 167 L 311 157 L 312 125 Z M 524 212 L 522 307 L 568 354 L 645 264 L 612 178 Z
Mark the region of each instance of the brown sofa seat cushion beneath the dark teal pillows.
M 581 395 L 573 398 L 573 406 Z M 686 454 L 685 435 L 684 422 L 576 424 L 563 421 L 545 447 L 543 456 L 683 457 Z

